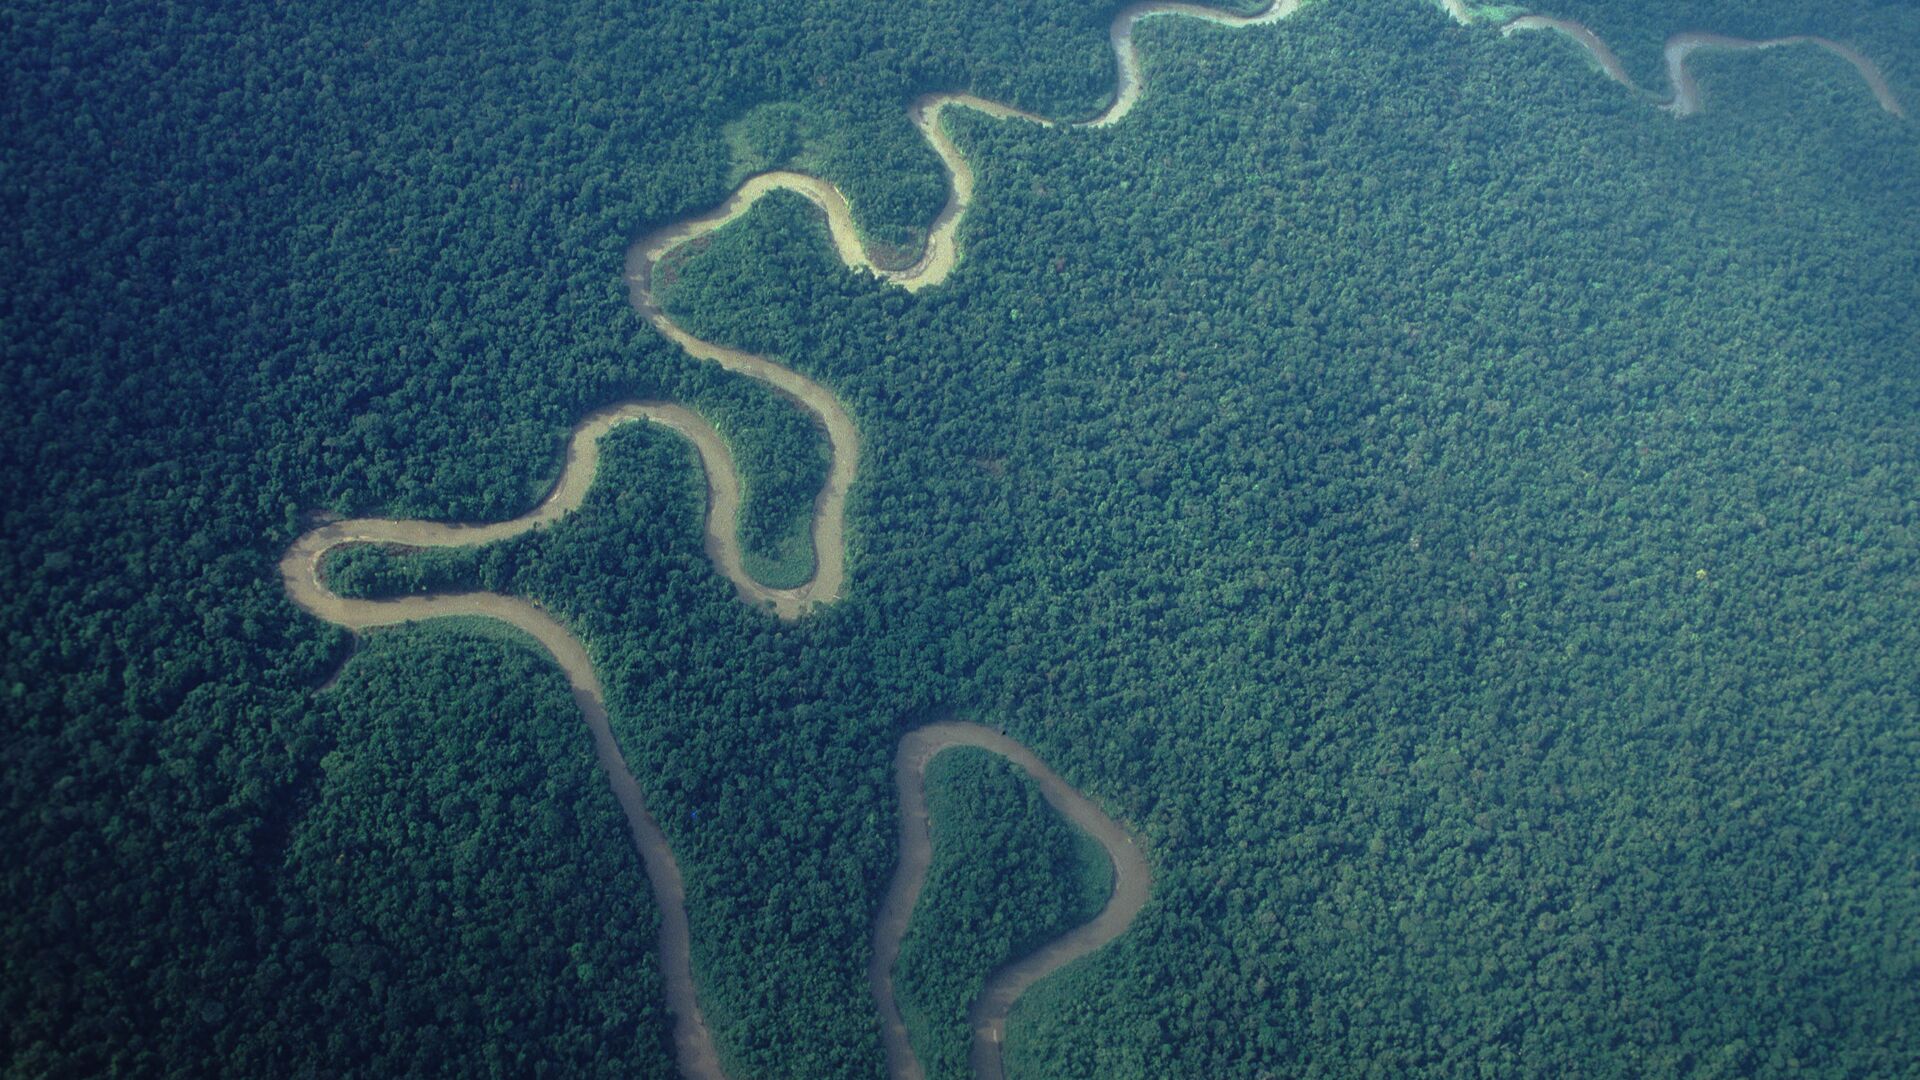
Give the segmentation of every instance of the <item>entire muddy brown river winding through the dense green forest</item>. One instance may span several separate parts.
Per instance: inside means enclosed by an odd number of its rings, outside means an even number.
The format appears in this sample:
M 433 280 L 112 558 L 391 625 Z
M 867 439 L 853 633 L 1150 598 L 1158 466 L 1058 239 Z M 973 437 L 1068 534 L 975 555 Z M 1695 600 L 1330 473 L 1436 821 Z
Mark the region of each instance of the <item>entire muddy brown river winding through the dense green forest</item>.
M 1286 19 L 1300 10 L 1302 0 L 1275 0 L 1258 15 L 1229 15 L 1194 4 L 1133 4 L 1121 10 L 1108 31 L 1117 83 L 1112 104 L 1098 115 L 1066 127 L 1106 127 L 1121 121 L 1140 98 L 1142 77 L 1133 31 L 1142 19 L 1162 15 L 1185 15 L 1219 23 L 1225 27 L 1254 27 Z M 1444 0 L 1448 12 L 1459 23 L 1475 23 L 1476 17 L 1465 0 Z M 1507 21 L 1501 33 L 1555 31 L 1571 37 L 1588 48 L 1615 81 L 1634 86 L 1619 58 L 1599 37 L 1563 19 L 1524 15 Z M 1667 44 L 1667 71 L 1672 83 L 1672 98 L 1665 106 L 1676 115 L 1699 111 L 1699 88 L 1688 73 L 1686 60 L 1701 48 L 1772 48 L 1782 44 L 1814 44 L 1826 48 L 1855 65 L 1866 79 L 1882 108 L 1905 115 L 1880 69 L 1859 52 L 1837 42 L 1814 37 L 1793 37 L 1778 40 L 1743 40 L 1715 35 L 1676 35 Z M 1638 86 L 1634 86 L 1638 90 Z M 1640 90 L 1645 94 L 1645 90 Z M 1651 96 L 1651 94 L 1649 94 Z M 1012 106 L 987 102 L 972 94 L 927 94 L 912 102 L 908 117 L 927 138 L 933 152 L 948 173 L 947 206 L 927 231 L 920 259 L 904 269 L 881 265 L 868 252 L 854 223 L 852 208 L 839 188 L 795 171 L 770 171 L 751 177 L 718 208 L 666 225 L 636 240 L 626 254 L 626 282 L 634 309 L 660 334 L 676 342 L 697 359 L 708 359 L 728 371 L 758 379 L 774 390 L 793 400 L 808 411 L 826 430 L 831 467 L 828 480 L 814 502 L 812 542 L 816 569 L 814 577 L 797 588 L 768 588 L 756 582 L 743 567 L 735 519 L 741 503 L 741 480 L 733 467 L 733 457 L 726 440 L 705 419 L 691 409 L 668 402 L 628 402 L 599 409 L 574 429 L 568 442 L 566 461 L 553 492 L 532 511 L 513 521 L 488 525 L 399 521 L 399 519 L 353 519 L 323 525 L 303 536 L 280 559 L 280 578 L 288 596 L 313 615 L 346 626 L 349 630 L 371 630 L 420 619 L 440 619 L 451 615 L 480 615 L 499 619 L 518 626 L 545 648 L 566 673 L 574 701 L 588 723 L 593 751 L 607 773 L 614 798 L 626 815 L 645 865 L 647 880 L 660 907 L 660 972 L 666 984 L 666 1007 L 674 1022 L 674 1053 L 682 1074 L 695 1078 L 722 1078 L 720 1055 L 714 1047 L 712 1032 L 701 1017 L 695 994 L 689 930 L 685 911 L 685 888 L 680 867 L 674 863 L 666 836 L 647 811 L 639 784 L 634 780 L 620 746 L 612 736 L 607 719 L 607 701 L 599 676 L 593 671 L 586 646 L 555 617 L 538 603 L 499 596 L 492 592 L 407 596 L 396 600 L 348 600 L 321 578 L 321 563 L 328 552 L 348 544 L 399 544 L 409 548 L 467 548 L 507 540 L 534 528 L 545 528 L 580 507 L 599 465 L 599 440 L 622 423 L 657 423 L 687 438 L 699 454 L 707 473 L 708 507 L 705 523 L 707 555 L 714 567 L 733 582 L 739 596 L 755 605 L 770 609 L 785 621 L 801 619 L 824 603 L 833 603 L 843 596 L 847 580 L 847 492 L 858 475 L 860 436 L 852 417 L 839 398 L 820 382 L 778 363 L 770 357 L 749 354 L 703 340 L 674 323 L 660 307 L 653 284 L 662 259 L 670 258 L 687 242 L 697 240 L 726 227 L 747 213 L 760 198 L 776 190 L 789 190 L 804 196 L 826 211 L 833 248 L 854 271 L 864 271 L 906 290 L 929 288 L 945 282 L 960 261 L 958 231 L 973 200 L 973 171 L 960 148 L 948 138 L 943 123 L 947 110 L 964 108 L 996 119 L 1020 119 L 1056 127 L 1060 121 L 1041 117 Z M 1148 899 L 1152 874 L 1135 838 L 1110 817 L 1100 813 L 1085 796 L 1075 792 L 1066 780 L 1043 765 L 1025 746 L 991 728 L 966 723 L 937 723 L 910 730 L 899 746 L 895 757 L 895 784 L 900 801 L 900 859 L 889 884 L 887 896 L 876 917 L 874 957 L 870 980 L 874 999 L 881 1015 L 881 1034 L 887 1049 L 887 1068 L 895 1080 L 922 1076 L 922 1067 L 914 1057 L 900 1022 L 899 1005 L 893 995 L 893 963 L 899 957 L 906 922 L 925 884 L 931 861 L 931 836 L 925 813 L 925 765 L 941 749 L 950 746 L 977 746 L 998 753 L 1021 767 L 1039 784 L 1046 801 L 1066 815 L 1073 824 L 1089 832 L 1114 861 L 1114 894 L 1094 920 L 1048 942 L 1027 957 L 998 969 L 989 978 L 981 995 L 970 1009 L 973 1028 L 972 1065 L 977 1076 L 1000 1076 L 1000 1042 L 1006 1017 L 1014 1001 L 1033 982 L 1044 978 L 1073 959 L 1079 959 L 1117 938 L 1133 922 L 1135 915 Z

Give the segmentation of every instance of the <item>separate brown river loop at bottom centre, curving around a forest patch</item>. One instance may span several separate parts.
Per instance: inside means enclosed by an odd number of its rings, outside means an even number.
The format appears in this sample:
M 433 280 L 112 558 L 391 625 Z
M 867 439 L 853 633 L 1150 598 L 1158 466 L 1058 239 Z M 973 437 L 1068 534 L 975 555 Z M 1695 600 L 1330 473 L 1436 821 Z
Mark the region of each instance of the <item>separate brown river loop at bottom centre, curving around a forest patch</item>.
M 887 897 L 874 919 L 874 957 L 868 963 L 868 980 L 874 984 L 874 1001 L 879 1005 L 881 1042 L 887 1047 L 887 1074 L 893 1080 L 925 1078 L 906 1038 L 906 1024 L 900 1020 L 900 1005 L 893 994 L 893 965 L 900 957 L 906 922 L 912 919 L 914 905 L 920 903 L 920 890 L 925 886 L 927 867 L 933 863 L 933 838 L 927 830 L 927 763 L 954 746 L 977 746 L 1018 765 L 1033 776 L 1046 803 L 1092 836 L 1114 863 L 1114 894 L 1091 922 L 1046 942 L 987 978 L 981 995 L 968 1009 L 968 1026 L 973 1030 L 970 1059 L 975 1076 L 1000 1078 L 1000 1043 L 1014 1001 L 1060 967 L 1121 936 L 1133 917 L 1146 907 L 1154 880 L 1146 867 L 1146 855 L 1133 834 L 1106 817 L 1100 807 L 1041 763 L 1025 746 L 993 728 L 954 721 L 906 732 L 893 757 L 893 782 L 900 799 L 900 861 L 895 865 Z

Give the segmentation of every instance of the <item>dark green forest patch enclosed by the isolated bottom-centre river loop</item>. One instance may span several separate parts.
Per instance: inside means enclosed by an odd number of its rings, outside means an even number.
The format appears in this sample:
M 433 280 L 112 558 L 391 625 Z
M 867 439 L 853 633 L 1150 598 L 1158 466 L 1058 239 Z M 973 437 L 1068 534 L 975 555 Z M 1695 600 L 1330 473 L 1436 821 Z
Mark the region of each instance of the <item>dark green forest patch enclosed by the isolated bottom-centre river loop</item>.
M 970 1076 L 968 1005 L 987 974 L 1098 915 L 1114 865 L 985 749 L 927 763 L 927 815 L 933 865 L 893 976 L 927 1076 Z

